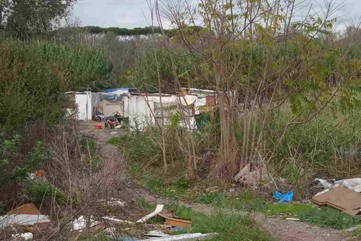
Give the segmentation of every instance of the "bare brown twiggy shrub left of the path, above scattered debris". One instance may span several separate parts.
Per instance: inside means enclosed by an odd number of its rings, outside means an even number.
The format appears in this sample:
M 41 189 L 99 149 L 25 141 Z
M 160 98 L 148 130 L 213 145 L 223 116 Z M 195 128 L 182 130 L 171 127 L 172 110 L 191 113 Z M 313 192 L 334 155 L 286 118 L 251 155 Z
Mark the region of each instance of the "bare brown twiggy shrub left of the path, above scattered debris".
M 136 185 L 119 176 L 124 169 L 122 158 L 114 158 L 114 154 L 103 159 L 94 138 L 69 126 L 59 126 L 51 136 L 46 145 L 49 156 L 44 181 L 49 193 L 44 193 L 37 206 L 49 216 L 53 227 L 32 228 L 34 238 L 50 241 L 86 236 L 91 240 L 95 231 L 106 227 L 104 216 L 129 219 L 137 199 Z M 84 217 L 86 226 L 74 231 L 73 221 L 79 216 Z M 92 227 L 94 222 L 98 222 L 97 228 Z

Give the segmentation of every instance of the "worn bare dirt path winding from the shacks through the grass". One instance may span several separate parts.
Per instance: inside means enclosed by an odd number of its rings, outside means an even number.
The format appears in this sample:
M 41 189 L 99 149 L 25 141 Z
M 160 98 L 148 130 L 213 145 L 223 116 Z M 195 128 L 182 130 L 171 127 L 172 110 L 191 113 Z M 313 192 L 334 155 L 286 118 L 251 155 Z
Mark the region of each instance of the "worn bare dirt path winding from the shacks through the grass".
M 94 126 L 99 122 L 83 122 L 83 129 L 89 134 L 93 134 L 97 137 L 98 142 L 101 143 L 101 154 L 103 158 L 117 158 L 122 161 L 121 152 L 113 145 L 106 144 L 106 141 L 117 135 L 124 134 L 124 129 L 114 130 L 94 130 Z M 147 199 L 151 203 L 168 203 L 169 199 L 157 197 L 154 194 L 148 193 L 144 190 L 142 197 Z M 206 215 L 212 214 L 214 208 L 209 205 L 201 205 L 198 203 L 181 203 L 182 205 L 192 207 L 195 212 L 202 212 Z M 348 241 L 350 240 L 350 233 L 345 231 L 338 231 L 331 228 L 321 228 L 317 226 L 311 226 L 299 221 L 288 221 L 280 218 L 265 217 L 264 214 L 255 213 L 255 219 L 257 223 L 263 225 L 268 229 L 274 237 L 277 237 L 279 241 Z

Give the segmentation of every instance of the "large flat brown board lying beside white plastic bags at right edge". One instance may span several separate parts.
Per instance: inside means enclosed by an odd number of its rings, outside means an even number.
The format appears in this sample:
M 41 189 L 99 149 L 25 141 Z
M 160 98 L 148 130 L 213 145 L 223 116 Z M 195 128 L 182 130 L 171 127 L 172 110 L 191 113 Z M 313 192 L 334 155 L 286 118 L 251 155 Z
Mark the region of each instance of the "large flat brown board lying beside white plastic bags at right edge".
M 333 207 L 349 215 L 361 214 L 361 194 L 343 186 L 332 188 L 325 193 L 314 196 L 311 201 L 319 206 Z

